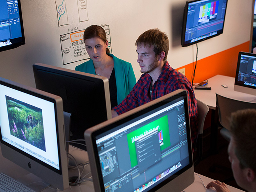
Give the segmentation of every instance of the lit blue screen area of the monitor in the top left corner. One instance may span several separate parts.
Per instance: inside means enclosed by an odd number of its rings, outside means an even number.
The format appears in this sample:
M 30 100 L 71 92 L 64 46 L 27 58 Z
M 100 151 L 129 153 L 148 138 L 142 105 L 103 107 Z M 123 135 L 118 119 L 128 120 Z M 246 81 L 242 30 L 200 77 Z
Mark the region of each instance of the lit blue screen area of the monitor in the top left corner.
M 20 13 L 17 0 L 0 1 L 0 47 L 12 44 L 10 39 L 21 37 Z

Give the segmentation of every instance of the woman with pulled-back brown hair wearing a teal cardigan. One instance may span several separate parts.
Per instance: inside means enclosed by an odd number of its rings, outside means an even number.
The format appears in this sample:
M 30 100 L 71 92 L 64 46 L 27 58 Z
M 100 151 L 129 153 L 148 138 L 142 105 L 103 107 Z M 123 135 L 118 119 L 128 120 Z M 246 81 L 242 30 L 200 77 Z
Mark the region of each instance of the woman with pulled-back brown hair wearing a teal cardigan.
M 121 103 L 136 83 L 131 63 L 109 53 L 105 30 L 91 25 L 84 31 L 84 44 L 90 60 L 76 66 L 76 71 L 108 78 L 111 108 Z

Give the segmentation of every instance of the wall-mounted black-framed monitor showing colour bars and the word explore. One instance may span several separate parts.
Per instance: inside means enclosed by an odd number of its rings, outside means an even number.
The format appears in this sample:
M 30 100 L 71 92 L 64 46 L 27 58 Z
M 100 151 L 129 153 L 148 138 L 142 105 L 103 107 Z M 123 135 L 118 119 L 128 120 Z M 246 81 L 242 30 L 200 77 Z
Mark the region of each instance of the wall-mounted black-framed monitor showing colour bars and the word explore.
M 181 46 L 186 47 L 223 33 L 228 0 L 195 0 L 186 3 Z

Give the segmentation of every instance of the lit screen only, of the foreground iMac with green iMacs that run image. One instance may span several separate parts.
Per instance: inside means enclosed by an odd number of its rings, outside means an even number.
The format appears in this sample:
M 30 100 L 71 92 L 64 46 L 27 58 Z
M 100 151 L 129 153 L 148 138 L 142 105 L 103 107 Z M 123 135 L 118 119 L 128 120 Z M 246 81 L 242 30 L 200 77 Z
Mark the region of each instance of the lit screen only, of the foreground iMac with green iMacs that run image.
M 189 164 L 184 100 L 96 140 L 105 191 L 143 191 Z

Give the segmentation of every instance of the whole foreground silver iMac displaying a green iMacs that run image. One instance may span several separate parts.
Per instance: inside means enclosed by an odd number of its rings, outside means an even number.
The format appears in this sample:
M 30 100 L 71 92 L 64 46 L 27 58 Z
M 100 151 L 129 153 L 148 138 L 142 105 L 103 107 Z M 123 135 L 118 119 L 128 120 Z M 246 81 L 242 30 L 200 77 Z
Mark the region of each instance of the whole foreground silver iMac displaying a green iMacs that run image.
M 95 191 L 180 192 L 194 182 L 185 90 L 87 129 L 84 138 Z

